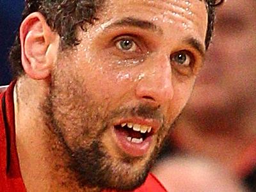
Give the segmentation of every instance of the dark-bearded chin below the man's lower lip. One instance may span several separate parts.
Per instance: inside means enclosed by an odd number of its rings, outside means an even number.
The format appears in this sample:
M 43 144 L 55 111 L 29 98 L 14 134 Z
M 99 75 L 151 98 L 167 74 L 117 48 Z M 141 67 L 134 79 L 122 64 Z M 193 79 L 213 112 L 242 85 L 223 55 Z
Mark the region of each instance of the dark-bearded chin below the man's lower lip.
M 153 158 L 146 161 L 141 158 L 125 157 L 116 159 L 102 150 L 100 143 L 93 147 L 79 148 L 72 153 L 68 168 L 75 174 L 81 187 L 118 189 L 129 191 L 138 188 L 145 182 Z

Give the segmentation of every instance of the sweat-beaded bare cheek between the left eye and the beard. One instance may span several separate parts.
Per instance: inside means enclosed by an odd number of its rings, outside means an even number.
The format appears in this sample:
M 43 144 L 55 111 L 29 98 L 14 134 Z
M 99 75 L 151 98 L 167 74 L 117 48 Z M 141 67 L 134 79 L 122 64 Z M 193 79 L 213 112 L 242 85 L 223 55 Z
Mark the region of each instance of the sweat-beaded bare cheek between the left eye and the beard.
M 93 95 L 93 99 L 106 102 L 131 94 L 134 79 L 138 76 L 134 67 L 118 65 L 117 61 L 106 56 L 106 52 L 101 54 L 100 51 L 93 51 L 97 49 L 91 48 L 89 46 L 84 54 L 83 47 L 79 45 L 77 54 L 72 56 L 72 62 L 76 66 L 74 70 L 77 79 L 83 82 L 86 90 Z

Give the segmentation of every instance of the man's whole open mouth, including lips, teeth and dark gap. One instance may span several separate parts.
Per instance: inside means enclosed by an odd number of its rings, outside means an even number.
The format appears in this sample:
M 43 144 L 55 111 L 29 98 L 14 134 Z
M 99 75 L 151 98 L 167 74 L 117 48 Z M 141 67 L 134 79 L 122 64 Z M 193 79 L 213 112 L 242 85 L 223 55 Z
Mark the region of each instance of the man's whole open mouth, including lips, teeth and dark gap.
M 155 133 L 150 125 L 124 122 L 114 125 L 118 147 L 130 156 L 143 156 L 148 152 Z

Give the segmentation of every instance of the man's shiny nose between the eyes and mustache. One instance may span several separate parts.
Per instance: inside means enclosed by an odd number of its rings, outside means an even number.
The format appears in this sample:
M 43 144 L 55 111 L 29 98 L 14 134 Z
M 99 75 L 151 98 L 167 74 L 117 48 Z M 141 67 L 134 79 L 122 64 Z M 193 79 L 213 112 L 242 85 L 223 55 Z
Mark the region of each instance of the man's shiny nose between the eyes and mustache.
M 159 54 L 144 64 L 145 75 L 137 84 L 136 96 L 157 106 L 168 104 L 173 98 L 170 58 Z

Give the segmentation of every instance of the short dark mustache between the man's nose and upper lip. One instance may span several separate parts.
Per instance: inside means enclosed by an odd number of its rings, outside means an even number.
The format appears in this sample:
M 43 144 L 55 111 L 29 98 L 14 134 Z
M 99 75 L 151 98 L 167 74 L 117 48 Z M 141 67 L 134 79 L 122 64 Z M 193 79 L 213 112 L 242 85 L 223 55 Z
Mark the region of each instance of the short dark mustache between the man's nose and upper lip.
M 129 108 L 120 108 L 111 113 L 110 118 L 116 116 L 139 116 L 141 118 L 152 118 L 163 122 L 164 115 L 161 113 L 160 106 L 151 106 L 148 104 L 140 104 Z

